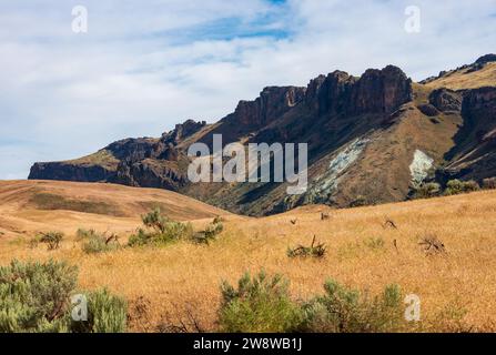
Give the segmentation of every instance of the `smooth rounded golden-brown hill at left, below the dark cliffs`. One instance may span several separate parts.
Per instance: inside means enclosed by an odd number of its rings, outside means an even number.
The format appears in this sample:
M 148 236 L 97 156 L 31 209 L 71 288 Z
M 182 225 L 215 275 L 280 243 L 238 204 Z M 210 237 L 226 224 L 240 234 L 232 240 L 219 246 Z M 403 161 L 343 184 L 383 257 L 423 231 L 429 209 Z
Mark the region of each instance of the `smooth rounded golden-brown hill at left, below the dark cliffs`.
M 159 207 L 173 220 L 229 215 L 188 196 L 158 189 L 58 181 L 0 181 L 0 236 L 79 227 L 131 233 L 140 215 Z

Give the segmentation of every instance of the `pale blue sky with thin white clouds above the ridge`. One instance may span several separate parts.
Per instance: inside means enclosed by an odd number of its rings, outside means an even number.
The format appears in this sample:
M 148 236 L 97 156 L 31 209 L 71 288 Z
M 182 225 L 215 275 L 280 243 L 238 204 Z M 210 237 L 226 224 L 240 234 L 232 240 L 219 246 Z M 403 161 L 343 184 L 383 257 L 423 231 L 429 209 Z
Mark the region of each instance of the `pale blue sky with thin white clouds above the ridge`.
M 405 31 L 408 6 L 419 33 Z M 265 85 L 389 63 L 422 80 L 495 43 L 496 0 L 1 0 L 0 179 L 216 121 Z

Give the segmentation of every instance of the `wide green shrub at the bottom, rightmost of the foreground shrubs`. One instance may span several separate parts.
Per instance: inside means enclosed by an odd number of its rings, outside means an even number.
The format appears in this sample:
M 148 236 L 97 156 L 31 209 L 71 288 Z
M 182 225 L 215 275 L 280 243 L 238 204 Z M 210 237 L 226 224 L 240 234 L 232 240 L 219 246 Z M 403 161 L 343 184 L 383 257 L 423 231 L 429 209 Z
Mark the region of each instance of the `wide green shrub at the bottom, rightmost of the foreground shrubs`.
M 334 281 L 324 284 L 325 295 L 303 305 L 304 332 L 377 333 L 403 329 L 399 287 L 389 285 L 379 296 L 370 298 Z

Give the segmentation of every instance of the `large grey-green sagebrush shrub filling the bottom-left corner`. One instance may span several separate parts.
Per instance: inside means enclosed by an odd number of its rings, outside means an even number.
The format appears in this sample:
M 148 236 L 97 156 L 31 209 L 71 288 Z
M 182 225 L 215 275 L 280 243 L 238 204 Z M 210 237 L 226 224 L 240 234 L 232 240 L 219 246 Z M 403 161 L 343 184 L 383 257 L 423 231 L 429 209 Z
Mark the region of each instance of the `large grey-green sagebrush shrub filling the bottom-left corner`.
M 78 268 L 50 261 L 0 267 L 0 332 L 68 332 Z

